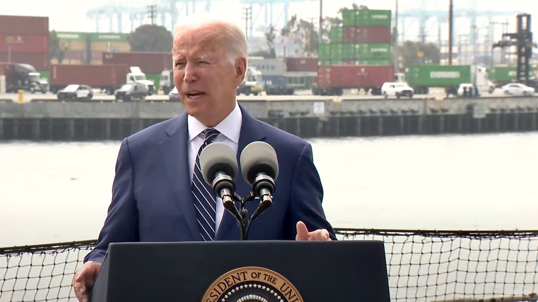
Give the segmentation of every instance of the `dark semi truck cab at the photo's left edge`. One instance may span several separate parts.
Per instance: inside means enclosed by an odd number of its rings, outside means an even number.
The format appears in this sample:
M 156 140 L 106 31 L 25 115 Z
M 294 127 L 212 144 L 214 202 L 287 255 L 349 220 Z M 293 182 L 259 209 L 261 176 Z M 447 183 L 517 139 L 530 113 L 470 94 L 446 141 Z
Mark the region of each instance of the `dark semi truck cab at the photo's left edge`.
M 12 93 L 18 90 L 48 91 L 47 80 L 41 78 L 36 68 L 30 64 L 0 62 L 0 75 L 5 76 L 5 92 Z

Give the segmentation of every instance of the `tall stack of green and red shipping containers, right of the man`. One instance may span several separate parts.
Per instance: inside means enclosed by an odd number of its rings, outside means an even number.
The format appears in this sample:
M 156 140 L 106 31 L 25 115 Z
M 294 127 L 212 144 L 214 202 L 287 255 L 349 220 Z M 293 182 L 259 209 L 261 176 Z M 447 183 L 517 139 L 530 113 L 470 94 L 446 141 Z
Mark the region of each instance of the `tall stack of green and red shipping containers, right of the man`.
M 346 88 L 380 94 L 394 80 L 390 10 L 344 10 L 342 26 L 332 27 L 330 42 L 318 45 L 314 94 L 342 95 Z

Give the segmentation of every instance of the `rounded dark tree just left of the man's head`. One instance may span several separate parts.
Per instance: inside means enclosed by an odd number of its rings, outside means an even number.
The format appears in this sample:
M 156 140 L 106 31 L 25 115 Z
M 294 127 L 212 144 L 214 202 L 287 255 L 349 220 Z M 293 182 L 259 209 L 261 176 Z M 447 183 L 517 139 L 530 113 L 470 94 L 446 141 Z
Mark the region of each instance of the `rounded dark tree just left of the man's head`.
M 140 25 L 129 34 L 133 52 L 169 52 L 172 49 L 172 33 L 164 26 Z

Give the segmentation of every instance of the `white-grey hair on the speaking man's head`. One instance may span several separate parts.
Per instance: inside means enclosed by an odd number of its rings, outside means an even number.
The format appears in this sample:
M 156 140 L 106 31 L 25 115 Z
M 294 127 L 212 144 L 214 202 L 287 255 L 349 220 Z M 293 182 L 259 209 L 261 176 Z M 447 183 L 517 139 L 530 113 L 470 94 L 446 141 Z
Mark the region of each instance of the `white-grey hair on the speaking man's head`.
M 180 18 L 179 22 L 174 28 L 174 37 L 182 29 L 200 28 L 210 24 L 220 25 L 219 30 L 221 31 L 222 36 L 218 37 L 218 39 L 221 39 L 226 47 L 226 59 L 231 66 L 235 65 L 239 57 L 244 57 L 245 60 L 247 59 L 248 46 L 242 27 L 238 26 L 236 23 L 233 23 L 231 19 L 224 19 L 222 14 L 216 15 L 203 12 L 189 15 L 186 18 Z

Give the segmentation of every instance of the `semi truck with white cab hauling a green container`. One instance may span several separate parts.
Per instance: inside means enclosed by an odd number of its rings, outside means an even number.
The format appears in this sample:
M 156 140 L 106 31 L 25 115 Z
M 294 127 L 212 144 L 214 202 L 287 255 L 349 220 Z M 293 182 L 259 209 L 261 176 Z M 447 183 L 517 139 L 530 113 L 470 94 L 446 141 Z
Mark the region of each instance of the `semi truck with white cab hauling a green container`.
M 430 88 L 444 88 L 447 95 L 457 95 L 461 84 L 472 84 L 478 94 L 495 89 L 487 68 L 478 65 L 419 65 L 405 68 L 405 80 L 415 94 L 428 94 Z

